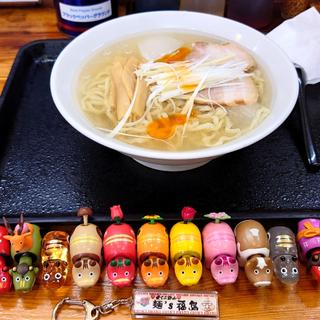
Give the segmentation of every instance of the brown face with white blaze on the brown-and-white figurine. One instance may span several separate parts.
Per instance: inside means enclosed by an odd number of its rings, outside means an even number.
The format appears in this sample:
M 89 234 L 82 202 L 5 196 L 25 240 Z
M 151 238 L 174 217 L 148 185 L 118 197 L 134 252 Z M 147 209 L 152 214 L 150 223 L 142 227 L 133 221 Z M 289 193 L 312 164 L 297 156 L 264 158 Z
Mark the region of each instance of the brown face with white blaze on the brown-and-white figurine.
M 256 287 L 266 287 L 271 284 L 273 276 L 272 260 L 270 257 L 253 257 L 245 264 L 248 280 Z

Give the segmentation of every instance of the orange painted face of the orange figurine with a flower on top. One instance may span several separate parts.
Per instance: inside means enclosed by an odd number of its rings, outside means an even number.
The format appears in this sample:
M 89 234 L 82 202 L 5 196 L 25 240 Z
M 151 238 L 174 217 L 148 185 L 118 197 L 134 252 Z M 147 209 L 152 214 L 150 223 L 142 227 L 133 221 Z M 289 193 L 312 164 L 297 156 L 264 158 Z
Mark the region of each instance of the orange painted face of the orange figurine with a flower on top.
M 150 257 L 141 265 L 141 276 L 148 287 L 163 286 L 169 276 L 169 266 L 166 260 Z

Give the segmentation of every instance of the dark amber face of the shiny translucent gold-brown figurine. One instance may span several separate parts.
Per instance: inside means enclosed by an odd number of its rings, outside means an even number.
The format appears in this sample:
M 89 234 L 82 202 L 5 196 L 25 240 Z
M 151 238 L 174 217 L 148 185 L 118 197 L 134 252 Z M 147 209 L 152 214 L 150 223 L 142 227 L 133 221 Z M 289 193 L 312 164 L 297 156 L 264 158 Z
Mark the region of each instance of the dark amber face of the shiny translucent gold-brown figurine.
M 58 289 L 67 278 L 68 264 L 61 260 L 45 261 L 42 266 L 40 279 L 46 288 Z

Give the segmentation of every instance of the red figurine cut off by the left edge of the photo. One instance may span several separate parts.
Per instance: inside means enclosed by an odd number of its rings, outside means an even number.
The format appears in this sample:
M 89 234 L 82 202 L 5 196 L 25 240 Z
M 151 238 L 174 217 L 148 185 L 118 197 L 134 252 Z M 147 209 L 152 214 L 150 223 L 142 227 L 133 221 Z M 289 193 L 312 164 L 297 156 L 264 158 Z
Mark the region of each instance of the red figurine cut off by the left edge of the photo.
M 10 241 L 4 239 L 8 235 L 7 228 L 0 226 L 0 294 L 10 290 L 12 279 L 9 274 L 11 264 Z

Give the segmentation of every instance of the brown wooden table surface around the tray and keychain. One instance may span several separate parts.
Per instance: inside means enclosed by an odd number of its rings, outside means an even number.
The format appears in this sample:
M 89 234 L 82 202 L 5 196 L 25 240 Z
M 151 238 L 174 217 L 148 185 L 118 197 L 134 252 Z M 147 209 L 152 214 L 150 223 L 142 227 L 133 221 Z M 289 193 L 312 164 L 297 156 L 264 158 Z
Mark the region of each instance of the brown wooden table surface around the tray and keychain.
M 56 27 L 52 3 L 45 1 L 39 7 L 0 8 L 0 92 L 4 86 L 18 49 L 39 39 L 64 38 Z M 136 281 L 136 286 L 142 286 Z M 181 289 L 171 274 L 166 288 Z M 220 287 L 205 270 L 197 286 L 190 290 L 217 290 L 219 293 L 221 319 L 319 319 L 320 293 L 318 284 L 305 274 L 301 267 L 301 281 L 296 287 L 286 287 L 274 281 L 271 287 L 254 288 L 241 271 L 237 283 Z M 100 304 L 110 298 L 125 298 L 130 288 L 115 289 L 101 280 L 97 286 L 80 290 L 69 279 L 67 286 L 50 292 L 37 283 L 32 292 L 17 294 L 14 291 L 0 297 L 0 319 L 50 319 L 53 306 L 62 298 L 88 299 Z M 83 319 L 78 307 L 64 308 L 59 319 Z M 101 319 L 130 319 L 127 307 L 117 309 Z

